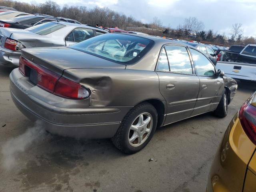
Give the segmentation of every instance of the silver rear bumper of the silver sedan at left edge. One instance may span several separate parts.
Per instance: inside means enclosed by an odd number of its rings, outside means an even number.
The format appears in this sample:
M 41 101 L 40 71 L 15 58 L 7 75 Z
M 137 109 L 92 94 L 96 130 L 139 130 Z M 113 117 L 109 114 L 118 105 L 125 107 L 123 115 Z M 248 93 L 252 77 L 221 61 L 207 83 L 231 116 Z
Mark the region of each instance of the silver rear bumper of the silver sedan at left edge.
M 20 53 L 8 52 L 4 48 L 0 48 L 0 63 L 9 67 L 19 66 Z

